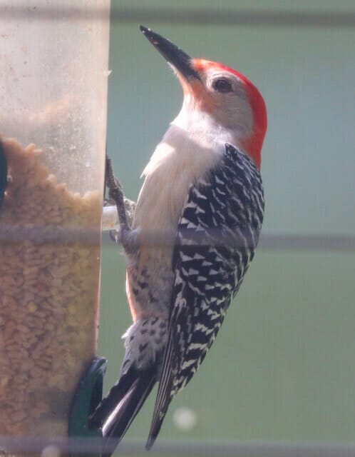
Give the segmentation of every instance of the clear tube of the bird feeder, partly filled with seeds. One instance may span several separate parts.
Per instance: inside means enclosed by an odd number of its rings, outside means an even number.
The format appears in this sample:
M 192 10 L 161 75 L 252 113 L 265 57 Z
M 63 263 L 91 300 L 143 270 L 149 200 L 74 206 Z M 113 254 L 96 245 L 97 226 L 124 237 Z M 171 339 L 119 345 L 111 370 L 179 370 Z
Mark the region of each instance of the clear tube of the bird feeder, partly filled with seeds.
M 0 436 L 66 436 L 96 356 L 109 0 L 0 0 Z

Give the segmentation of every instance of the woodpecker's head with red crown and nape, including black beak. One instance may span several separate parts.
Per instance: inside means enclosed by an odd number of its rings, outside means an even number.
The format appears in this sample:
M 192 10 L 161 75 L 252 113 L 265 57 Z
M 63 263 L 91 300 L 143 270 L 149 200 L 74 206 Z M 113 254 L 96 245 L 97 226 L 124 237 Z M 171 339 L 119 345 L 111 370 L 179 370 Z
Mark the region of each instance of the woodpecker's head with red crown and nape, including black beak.
M 180 115 L 188 116 L 196 125 L 212 124 L 210 128 L 221 141 L 240 146 L 260 168 L 267 110 L 254 84 L 225 65 L 193 59 L 150 29 L 140 26 L 140 30 L 180 80 L 184 92 Z

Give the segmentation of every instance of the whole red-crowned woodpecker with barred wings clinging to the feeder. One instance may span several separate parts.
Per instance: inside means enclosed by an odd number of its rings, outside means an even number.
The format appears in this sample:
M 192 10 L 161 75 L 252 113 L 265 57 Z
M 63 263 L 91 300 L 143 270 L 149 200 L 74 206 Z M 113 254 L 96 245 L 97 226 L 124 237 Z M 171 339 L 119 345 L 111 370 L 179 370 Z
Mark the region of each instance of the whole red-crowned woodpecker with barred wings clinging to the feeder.
M 124 335 L 118 383 L 91 426 L 118 443 L 158 382 L 150 448 L 173 396 L 215 341 L 254 256 L 264 212 L 259 170 L 267 111 L 242 74 L 192 59 L 140 29 L 175 70 L 184 100 L 143 171 L 128 233 L 138 248 L 122 239 L 133 325 Z M 161 233 L 173 236 L 162 243 L 149 238 Z

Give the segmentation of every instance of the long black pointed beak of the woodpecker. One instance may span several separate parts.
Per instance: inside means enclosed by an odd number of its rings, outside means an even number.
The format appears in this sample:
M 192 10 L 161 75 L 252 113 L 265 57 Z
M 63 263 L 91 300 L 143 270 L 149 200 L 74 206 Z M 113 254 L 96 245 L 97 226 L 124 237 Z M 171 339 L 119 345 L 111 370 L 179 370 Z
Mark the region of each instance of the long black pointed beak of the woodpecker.
M 158 49 L 165 59 L 177 69 L 186 79 L 200 79 L 200 75 L 192 68 L 192 58 L 182 49 L 178 48 L 170 40 L 167 40 L 161 35 L 140 26 L 140 30 L 148 38 L 151 44 Z

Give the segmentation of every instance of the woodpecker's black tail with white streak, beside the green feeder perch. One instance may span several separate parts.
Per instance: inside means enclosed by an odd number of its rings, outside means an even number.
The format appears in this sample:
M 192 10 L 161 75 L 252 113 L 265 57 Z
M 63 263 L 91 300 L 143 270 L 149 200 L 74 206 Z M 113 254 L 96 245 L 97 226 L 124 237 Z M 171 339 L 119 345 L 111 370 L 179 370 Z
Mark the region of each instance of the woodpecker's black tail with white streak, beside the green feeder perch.
M 113 453 L 155 382 L 155 368 L 145 371 L 130 368 L 101 401 L 89 419 L 89 427 L 102 429 L 103 454 Z

